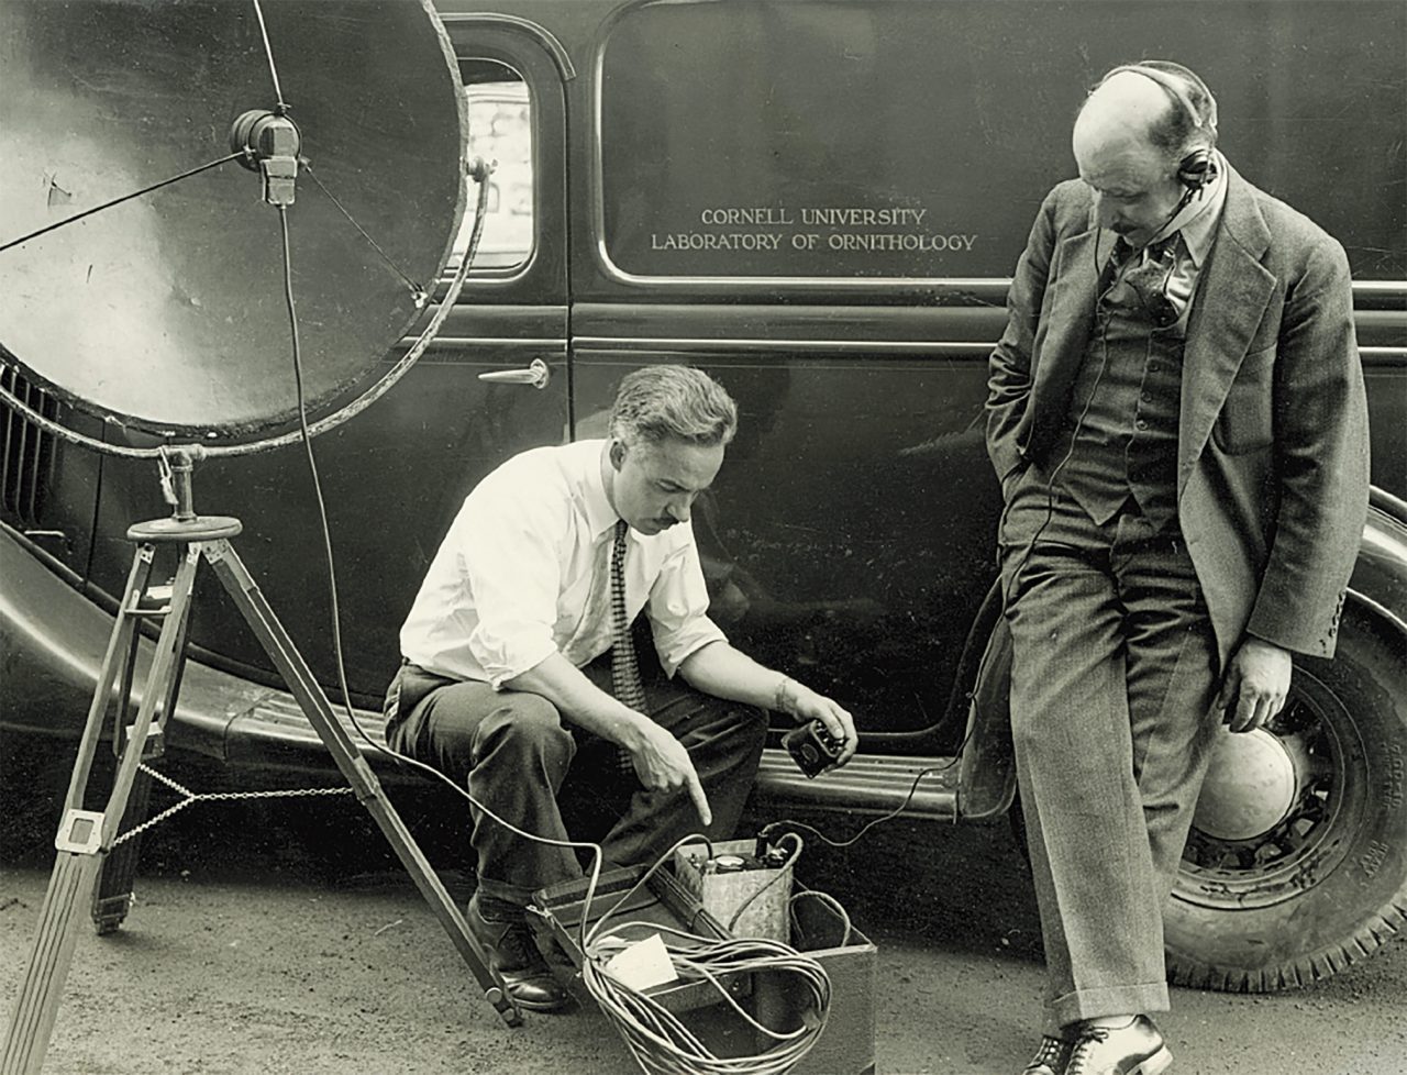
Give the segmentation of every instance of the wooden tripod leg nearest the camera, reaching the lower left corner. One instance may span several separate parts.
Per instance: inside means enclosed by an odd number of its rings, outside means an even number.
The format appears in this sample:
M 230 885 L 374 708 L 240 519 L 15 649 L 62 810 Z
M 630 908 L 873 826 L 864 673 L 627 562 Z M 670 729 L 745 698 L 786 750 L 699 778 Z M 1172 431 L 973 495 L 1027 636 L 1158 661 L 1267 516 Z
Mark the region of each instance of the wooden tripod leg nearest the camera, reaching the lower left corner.
M 49 889 L 39 910 L 34 948 L 30 953 L 30 962 L 15 996 L 13 1017 L 6 1030 L 4 1051 L 0 1052 L 0 1075 L 35 1075 L 44 1065 L 44 1054 L 49 1047 L 63 982 L 73 962 L 73 946 L 79 929 L 75 909 L 80 901 L 93 896 L 98 870 L 106 853 L 113 846 L 118 822 L 125 812 L 127 796 L 132 788 L 156 699 L 165 695 L 163 684 L 176 668 L 176 643 L 183 637 L 183 622 L 190 611 L 190 591 L 196 577 L 197 559 L 191 554 L 186 556 L 176 573 L 170 611 L 156 642 L 156 653 L 146 678 L 142 705 L 138 709 L 132 733 L 122 749 L 107 806 L 101 813 L 83 809 L 103 718 L 111 701 L 113 684 L 118 677 L 118 666 L 132 643 L 136 619 L 142 615 L 138 611 L 138 604 L 146 588 L 151 563 L 152 549 L 144 545 L 134 557 L 122 608 L 113 625 L 107 654 L 103 659 L 97 688 L 93 692 L 93 704 L 89 706 L 87 725 L 79 744 L 79 757 L 69 781 L 63 822 L 55 840 L 59 855 L 53 863 Z M 120 712 L 125 713 L 127 698 L 120 698 L 118 706 Z

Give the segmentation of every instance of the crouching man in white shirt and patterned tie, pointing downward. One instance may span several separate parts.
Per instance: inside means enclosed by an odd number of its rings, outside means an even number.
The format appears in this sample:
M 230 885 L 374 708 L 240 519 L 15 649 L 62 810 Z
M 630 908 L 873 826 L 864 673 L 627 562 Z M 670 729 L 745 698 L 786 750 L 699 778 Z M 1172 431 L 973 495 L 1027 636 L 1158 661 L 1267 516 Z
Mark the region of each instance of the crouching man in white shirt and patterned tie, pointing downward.
M 734 650 L 706 615 L 689 509 L 736 429 L 733 400 L 699 370 L 630 373 L 605 439 L 523 452 L 469 494 L 401 628 L 387 742 L 483 808 L 467 922 L 529 1010 L 567 1005 L 523 917 L 536 889 L 581 875 L 564 816 L 618 805 L 605 865 L 653 863 L 689 833 L 732 834 L 765 709 L 822 720 L 844 742 L 837 764 L 854 754 L 850 713 Z M 661 670 L 644 677 L 642 611 Z

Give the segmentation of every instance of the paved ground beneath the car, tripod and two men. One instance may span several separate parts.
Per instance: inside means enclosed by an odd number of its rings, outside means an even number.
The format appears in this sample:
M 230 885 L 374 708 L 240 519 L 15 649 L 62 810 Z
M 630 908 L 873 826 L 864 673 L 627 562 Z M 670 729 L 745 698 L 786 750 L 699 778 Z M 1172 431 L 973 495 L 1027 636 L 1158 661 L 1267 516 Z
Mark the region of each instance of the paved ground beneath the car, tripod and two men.
M 49 815 L 68 764 L 6 774 L 6 1017 L 52 865 Z M 397 801 L 447 886 L 467 895 L 466 864 L 449 839 L 463 822 L 457 808 Z M 810 820 L 836 836 L 858 825 Z M 1040 944 L 1005 826 L 889 822 L 848 851 L 810 841 L 798 872 L 836 895 L 878 944 L 881 1075 L 1020 1071 L 1033 1044 Z M 193 806 L 145 839 L 138 896 L 117 936 L 83 929 L 79 937 L 49 1075 L 637 1071 L 592 1009 L 505 1027 L 349 799 Z M 1162 1026 L 1176 1075 L 1407 1072 L 1401 940 L 1313 989 L 1179 989 L 1173 1003 Z

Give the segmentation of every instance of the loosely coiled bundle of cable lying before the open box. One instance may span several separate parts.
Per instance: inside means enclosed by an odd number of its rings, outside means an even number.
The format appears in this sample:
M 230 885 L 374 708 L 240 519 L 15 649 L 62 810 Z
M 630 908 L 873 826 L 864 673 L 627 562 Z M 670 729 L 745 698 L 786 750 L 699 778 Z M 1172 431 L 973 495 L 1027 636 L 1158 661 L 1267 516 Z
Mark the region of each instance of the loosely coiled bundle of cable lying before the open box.
M 680 979 L 684 984 L 708 982 L 746 1024 L 775 1043 L 771 1048 L 753 1055 L 719 1057 L 675 1013 L 654 998 L 618 981 L 605 968 L 605 961 L 598 954 L 598 943 L 597 953 L 592 953 L 581 968 L 582 981 L 647 1075 L 781 1075 L 806 1055 L 825 1030 L 830 1010 L 830 978 L 816 960 L 779 941 L 765 939 L 709 941 L 705 937 L 644 922 L 622 923 L 608 937 L 623 940 L 620 931 L 632 926 L 661 933 L 674 931 L 691 941 L 701 941 L 689 947 L 666 943 Z M 757 1022 L 733 999 L 723 979 L 760 971 L 792 975 L 810 993 L 812 1003 L 802 1016 L 802 1026 L 791 1031 L 772 1030 Z

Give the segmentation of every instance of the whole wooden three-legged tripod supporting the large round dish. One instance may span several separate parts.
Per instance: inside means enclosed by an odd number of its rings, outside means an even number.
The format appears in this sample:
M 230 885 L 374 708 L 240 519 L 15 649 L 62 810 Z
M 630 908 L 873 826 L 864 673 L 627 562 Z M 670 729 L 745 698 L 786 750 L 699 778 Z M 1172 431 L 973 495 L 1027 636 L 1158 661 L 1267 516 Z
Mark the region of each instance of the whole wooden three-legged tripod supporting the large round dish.
M 324 746 L 332 754 L 338 768 L 356 792 L 357 799 L 376 819 L 386 839 L 391 843 L 402 865 L 409 871 L 421 895 L 429 902 L 440 924 L 449 933 L 464 962 L 484 989 L 484 998 L 492 1003 L 508 1026 L 518 1026 L 522 1016 L 509 998 L 502 982 L 488 969 L 483 946 L 469 931 L 464 916 L 454 906 L 449 892 L 440 882 L 429 860 L 415 843 L 395 808 L 386 798 L 381 784 L 371 767 L 362 757 L 348 730 L 338 722 L 322 687 L 298 653 L 288 633 L 279 622 L 269 602 L 255 584 L 241 561 L 231 538 L 243 529 L 239 519 L 207 515 L 200 516 L 191 508 L 191 470 L 196 459 L 204 453 L 198 446 L 173 449 L 172 498 L 176 509 L 172 516 L 138 522 L 128 528 L 128 540 L 136 545 L 132 568 L 122 592 L 121 606 L 107 653 L 98 670 L 97 688 L 89 708 L 87 723 L 79 743 L 77 761 L 69 781 L 63 819 L 55 839 L 58 858 L 49 888 L 39 909 L 39 924 L 34 948 L 20 993 L 15 999 L 13 1017 L 6 1031 L 4 1051 L 0 1052 L 0 1075 L 37 1075 L 44 1064 L 53 1022 L 62 999 L 63 979 L 73 961 L 73 947 L 77 940 L 77 905 L 87 896 L 93 905 L 93 919 L 100 933 L 110 931 L 125 915 L 129 896 L 115 889 L 131 881 L 135 870 L 135 854 L 122 848 L 121 863 L 110 863 L 104 871 L 104 860 L 118 837 L 124 818 L 141 820 L 135 815 L 145 813 L 146 791 L 151 778 L 139 772 L 144 758 L 160 753 L 165 723 L 174 712 L 180 689 L 180 674 L 184 663 L 186 630 L 190 621 L 191 591 L 196 568 L 207 561 L 215 571 L 225 591 L 239 608 L 245 622 L 259 639 L 269 659 L 279 670 Z M 172 584 L 170 599 L 153 604 L 148 597 L 148 583 L 158 546 L 177 546 L 179 566 Z M 118 694 L 118 737 L 121 723 L 128 712 L 128 699 L 138 644 L 138 623 L 144 618 L 160 619 L 160 635 L 146 675 L 135 722 L 127 727 L 125 743 L 121 743 L 117 774 L 107 806 L 103 810 L 87 810 L 84 792 L 93 768 L 98 739 L 114 685 L 121 682 Z M 160 713 L 158 716 L 158 712 Z M 118 867 L 115 871 L 111 867 Z M 118 877 L 104 878 L 104 872 Z M 127 877 L 121 877 L 125 874 Z

